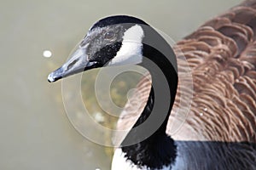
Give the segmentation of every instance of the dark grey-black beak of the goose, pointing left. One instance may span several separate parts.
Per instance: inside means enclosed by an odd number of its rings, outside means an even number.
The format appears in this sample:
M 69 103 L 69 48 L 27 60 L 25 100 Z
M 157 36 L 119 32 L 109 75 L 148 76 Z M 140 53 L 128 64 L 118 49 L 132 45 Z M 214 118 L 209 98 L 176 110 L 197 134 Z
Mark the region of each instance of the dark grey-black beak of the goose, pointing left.
M 85 48 L 78 48 L 67 62 L 48 76 L 49 82 L 55 82 L 63 77 L 99 67 L 96 61 L 89 61 Z

